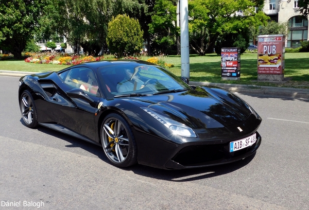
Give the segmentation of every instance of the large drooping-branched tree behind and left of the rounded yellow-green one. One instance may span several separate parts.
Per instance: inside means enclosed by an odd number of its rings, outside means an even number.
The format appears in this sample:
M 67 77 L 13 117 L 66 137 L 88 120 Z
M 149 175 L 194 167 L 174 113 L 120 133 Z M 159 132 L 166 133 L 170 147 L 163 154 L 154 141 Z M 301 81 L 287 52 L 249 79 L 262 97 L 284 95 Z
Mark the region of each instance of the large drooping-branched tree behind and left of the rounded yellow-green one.
M 88 53 L 98 54 L 106 48 L 108 22 L 118 14 L 145 13 L 147 5 L 144 0 L 55 0 L 50 10 L 46 20 L 52 20 L 52 31 L 64 35 L 74 53 L 82 46 Z

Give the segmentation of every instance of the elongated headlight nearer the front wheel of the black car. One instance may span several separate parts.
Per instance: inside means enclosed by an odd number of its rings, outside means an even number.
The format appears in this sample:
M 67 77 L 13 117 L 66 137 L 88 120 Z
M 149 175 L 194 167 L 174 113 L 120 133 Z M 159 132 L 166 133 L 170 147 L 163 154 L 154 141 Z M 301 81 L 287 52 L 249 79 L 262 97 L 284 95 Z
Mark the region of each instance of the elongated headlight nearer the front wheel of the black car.
M 140 107 L 145 112 L 153 116 L 157 121 L 164 124 L 167 128 L 169 128 L 174 134 L 177 134 L 179 136 L 184 137 L 196 137 L 196 134 L 192 130 L 192 128 L 188 127 L 187 125 L 184 125 L 182 123 L 179 123 L 177 121 L 174 121 L 172 119 L 169 119 L 167 117 L 164 117 L 149 108 L 146 107 Z

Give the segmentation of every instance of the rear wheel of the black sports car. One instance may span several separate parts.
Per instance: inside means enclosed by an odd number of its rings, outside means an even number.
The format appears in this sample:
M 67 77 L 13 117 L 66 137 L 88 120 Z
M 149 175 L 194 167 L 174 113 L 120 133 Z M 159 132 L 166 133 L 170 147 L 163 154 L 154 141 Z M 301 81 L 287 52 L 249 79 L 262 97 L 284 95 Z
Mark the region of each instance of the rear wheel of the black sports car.
M 21 117 L 25 125 L 30 128 L 36 127 L 37 126 L 36 107 L 34 104 L 33 97 L 29 92 L 29 90 L 25 90 L 22 92 L 19 99 L 19 107 Z

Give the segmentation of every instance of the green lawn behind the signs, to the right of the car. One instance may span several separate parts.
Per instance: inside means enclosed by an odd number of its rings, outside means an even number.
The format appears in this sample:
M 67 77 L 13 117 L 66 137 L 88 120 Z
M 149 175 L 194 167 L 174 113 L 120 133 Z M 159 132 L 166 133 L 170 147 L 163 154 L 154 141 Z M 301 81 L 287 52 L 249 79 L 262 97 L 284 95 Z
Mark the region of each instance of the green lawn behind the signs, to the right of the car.
M 165 60 L 175 66 L 169 70 L 180 76 L 180 56 L 169 56 Z M 240 81 L 221 79 L 221 56 L 190 56 L 190 81 L 309 88 L 309 53 L 285 53 L 284 77 L 290 81 L 257 81 L 257 53 L 244 53 L 240 56 Z

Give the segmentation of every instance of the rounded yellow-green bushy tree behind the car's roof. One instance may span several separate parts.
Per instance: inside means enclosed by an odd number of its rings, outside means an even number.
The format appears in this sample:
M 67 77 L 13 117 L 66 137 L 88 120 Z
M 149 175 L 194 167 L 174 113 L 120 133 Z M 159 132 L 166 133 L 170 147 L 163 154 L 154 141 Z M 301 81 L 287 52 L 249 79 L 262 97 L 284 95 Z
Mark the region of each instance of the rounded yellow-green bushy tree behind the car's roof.
M 117 53 L 119 57 L 124 53 L 132 55 L 139 53 L 143 45 L 143 31 L 136 19 L 118 15 L 108 23 L 106 41 L 111 53 Z

